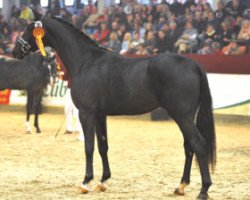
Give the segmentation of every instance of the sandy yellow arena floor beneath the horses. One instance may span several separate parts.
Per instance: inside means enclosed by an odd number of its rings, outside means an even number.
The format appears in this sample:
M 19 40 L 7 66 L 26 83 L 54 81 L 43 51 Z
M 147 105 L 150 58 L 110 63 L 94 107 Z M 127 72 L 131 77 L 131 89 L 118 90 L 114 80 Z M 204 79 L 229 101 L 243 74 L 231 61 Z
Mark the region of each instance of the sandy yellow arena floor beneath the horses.
M 194 163 L 184 197 L 173 195 L 183 169 L 183 140 L 173 122 L 145 118 L 108 119 L 112 178 L 105 193 L 79 193 L 85 171 L 84 144 L 77 135 L 55 138 L 64 116 L 41 115 L 42 134 L 25 134 L 22 112 L 0 113 L 0 199 L 195 199 L 200 175 Z M 250 199 L 250 124 L 218 122 L 218 164 L 210 199 Z M 93 189 L 101 177 L 96 149 Z

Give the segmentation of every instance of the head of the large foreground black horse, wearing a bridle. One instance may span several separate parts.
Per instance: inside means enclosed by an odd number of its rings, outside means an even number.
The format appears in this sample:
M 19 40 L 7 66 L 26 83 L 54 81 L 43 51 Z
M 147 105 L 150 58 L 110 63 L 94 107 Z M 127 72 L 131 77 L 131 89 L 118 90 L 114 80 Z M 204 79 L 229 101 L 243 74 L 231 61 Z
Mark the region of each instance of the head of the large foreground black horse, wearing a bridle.
M 43 26 L 40 21 L 42 15 L 34 10 L 33 12 L 35 21 L 28 25 L 23 35 L 17 39 L 16 45 L 13 49 L 12 54 L 17 59 L 23 59 L 26 55 L 38 50 L 36 38 L 34 37 L 34 29 Z M 44 30 L 44 27 L 41 28 Z

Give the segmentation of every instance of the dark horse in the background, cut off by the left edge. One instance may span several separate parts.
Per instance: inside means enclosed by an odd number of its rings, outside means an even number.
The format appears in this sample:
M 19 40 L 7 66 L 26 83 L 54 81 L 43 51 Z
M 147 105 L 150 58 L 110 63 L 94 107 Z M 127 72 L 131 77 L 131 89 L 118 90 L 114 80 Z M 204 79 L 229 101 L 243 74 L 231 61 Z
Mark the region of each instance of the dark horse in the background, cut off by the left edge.
M 26 128 L 31 133 L 29 124 L 30 114 L 34 110 L 34 126 L 36 132 L 40 133 L 38 116 L 43 91 L 50 82 L 55 81 L 57 66 L 53 56 L 43 58 L 39 52 L 27 56 L 24 60 L 0 60 L 0 90 L 26 90 Z

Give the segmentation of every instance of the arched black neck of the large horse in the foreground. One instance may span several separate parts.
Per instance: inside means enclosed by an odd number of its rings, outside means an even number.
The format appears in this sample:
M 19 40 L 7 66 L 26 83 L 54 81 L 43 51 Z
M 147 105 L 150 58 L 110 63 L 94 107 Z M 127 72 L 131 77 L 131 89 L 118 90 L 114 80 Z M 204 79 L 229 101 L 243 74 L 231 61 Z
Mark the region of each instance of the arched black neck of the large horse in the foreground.
M 74 28 L 56 19 L 46 21 L 46 31 L 49 33 L 49 46 L 56 50 L 70 77 L 77 75 L 87 59 L 94 54 L 94 49 Z

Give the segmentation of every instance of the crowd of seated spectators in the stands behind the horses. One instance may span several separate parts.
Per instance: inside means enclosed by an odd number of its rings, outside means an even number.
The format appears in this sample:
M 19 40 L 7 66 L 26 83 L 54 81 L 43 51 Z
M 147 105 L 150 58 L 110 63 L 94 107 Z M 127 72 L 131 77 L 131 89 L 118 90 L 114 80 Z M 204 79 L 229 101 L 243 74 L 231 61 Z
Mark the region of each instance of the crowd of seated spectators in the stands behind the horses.
M 48 15 L 71 22 L 100 45 L 122 55 L 250 52 L 250 5 L 245 0 L 219 1 L 216 10 L 205 0 L 187 0 L 184 4 L 178 0 L 155 4 L 151 0 L 148 5 L 122 0 L 119 5 L 104 7 L 102 14 L 96 5 L 86 5 L 79 14 L 71 14 L 53 2 Z M 0 53 L 11 52 L 32 18 L 28 5 L 21 11 L 13 6 L 8 23 L 0 16 Z

